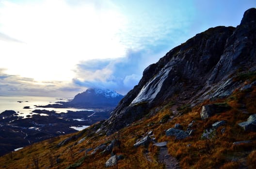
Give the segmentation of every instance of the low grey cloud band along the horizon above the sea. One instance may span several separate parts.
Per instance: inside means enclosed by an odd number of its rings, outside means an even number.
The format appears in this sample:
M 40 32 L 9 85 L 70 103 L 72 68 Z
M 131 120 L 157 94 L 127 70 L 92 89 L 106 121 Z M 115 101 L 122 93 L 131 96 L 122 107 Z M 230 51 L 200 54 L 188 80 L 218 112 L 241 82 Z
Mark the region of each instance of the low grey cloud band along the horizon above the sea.
M 20 96 L 74 97 L 81 87 L 58 81 L 38 82 L 33 78 L 9 75 L 0 69 L 0 94 Z

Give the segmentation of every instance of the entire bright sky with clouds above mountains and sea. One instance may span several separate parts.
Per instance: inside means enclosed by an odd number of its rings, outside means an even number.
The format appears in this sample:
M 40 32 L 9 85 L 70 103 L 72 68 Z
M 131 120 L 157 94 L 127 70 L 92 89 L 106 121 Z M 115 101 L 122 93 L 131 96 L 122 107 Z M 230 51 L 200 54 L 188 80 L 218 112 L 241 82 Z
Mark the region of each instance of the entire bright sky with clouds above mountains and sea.
M 173 47 L 256 0 L 0 0 L 0 95 L 126 94 Z

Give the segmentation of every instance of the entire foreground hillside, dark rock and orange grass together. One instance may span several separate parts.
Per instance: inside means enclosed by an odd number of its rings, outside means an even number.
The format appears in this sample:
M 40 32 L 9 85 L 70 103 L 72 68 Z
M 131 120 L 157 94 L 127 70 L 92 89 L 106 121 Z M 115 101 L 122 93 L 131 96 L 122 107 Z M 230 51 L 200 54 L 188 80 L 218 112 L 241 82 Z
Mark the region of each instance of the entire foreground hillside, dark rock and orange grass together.
M 148 66 L 108 120 L 0 157 L 0 167 L 255 169 L 256 9 Z M 167 151 L 167 152 L 166 152 Z

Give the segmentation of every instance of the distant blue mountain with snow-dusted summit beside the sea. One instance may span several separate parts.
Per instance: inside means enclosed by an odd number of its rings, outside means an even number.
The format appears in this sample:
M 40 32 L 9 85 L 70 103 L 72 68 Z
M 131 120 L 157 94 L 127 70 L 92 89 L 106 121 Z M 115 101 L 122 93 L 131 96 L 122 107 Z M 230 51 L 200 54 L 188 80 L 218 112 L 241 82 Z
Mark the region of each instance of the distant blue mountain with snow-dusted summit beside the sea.
M 109 89 L 89 88 L 67 102 L 73 107 L 115 107 L 123 99 L 123 95 Z

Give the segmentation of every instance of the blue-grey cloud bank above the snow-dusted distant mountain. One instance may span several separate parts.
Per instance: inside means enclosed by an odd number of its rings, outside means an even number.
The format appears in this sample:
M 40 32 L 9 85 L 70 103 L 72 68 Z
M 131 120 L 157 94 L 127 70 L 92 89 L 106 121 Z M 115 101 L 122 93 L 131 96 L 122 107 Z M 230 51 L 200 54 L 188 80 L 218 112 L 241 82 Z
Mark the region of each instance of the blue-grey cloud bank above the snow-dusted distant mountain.
M 77 65 L 73 83 L 87 88 L 113 89 L 126 94 L 138 84 L 143 70 L 149 64 L 156 62 L 160 56 L 163 55 L 152 51 L 129 50 L 127 55 L 121 58 L 83 61 Z

